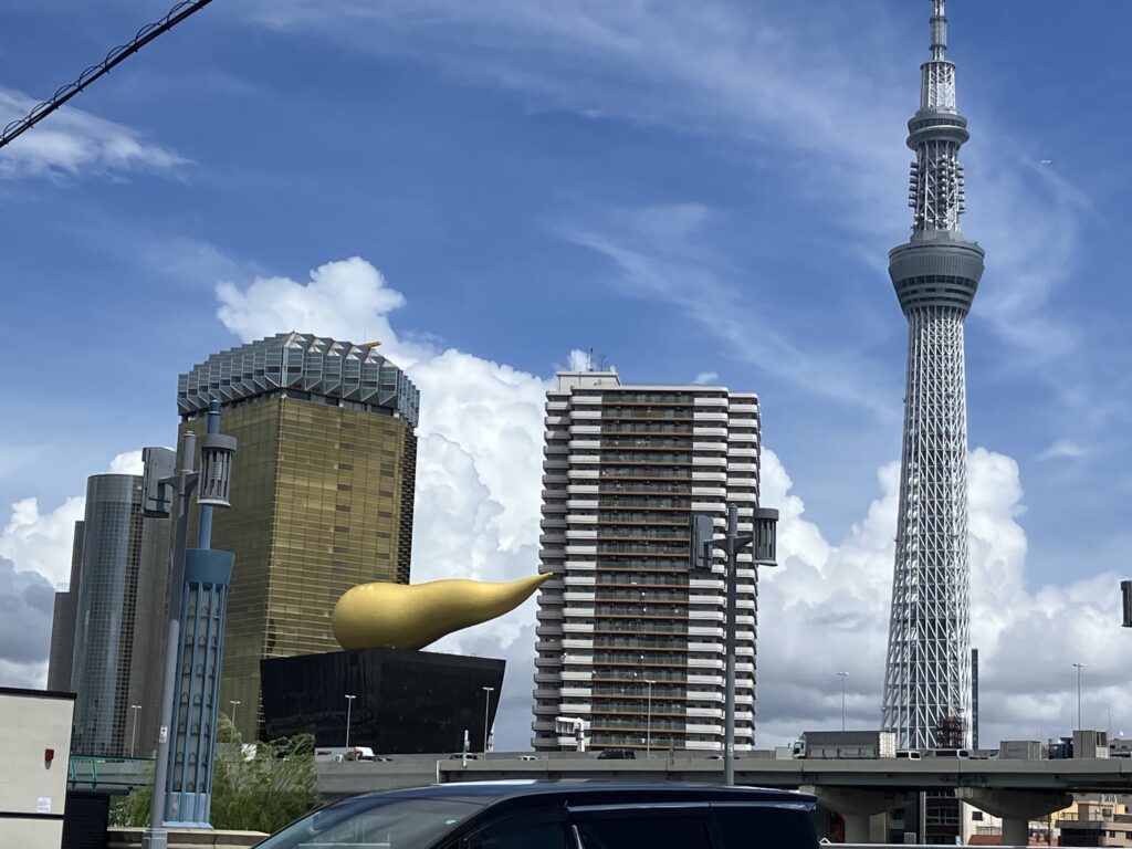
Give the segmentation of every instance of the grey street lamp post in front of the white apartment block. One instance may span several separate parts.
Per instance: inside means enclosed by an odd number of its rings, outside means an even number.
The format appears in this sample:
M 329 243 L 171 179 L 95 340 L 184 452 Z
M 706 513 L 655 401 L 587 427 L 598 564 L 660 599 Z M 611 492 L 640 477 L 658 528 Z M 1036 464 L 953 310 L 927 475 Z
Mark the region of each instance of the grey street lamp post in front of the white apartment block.
M 727 535 L 712 538 L 712 521 L 709 516 L 692 514 L 692 568 L 711 572 L 711 550 L 718 548 L 727 555 L 727 678 L 723 705 L 723 782 L 735 784 L 735 631 L 736 597 L 738 594 L 738 557 L 748 546 L 754 548 L 753 566 L 777 566 L 775 525 L 778 511 L 758 508 L 753 511 L 752 533 L 739 533 L 739 507 L 727 506 Z M 757 580 L 757 578 L 756 578 Z

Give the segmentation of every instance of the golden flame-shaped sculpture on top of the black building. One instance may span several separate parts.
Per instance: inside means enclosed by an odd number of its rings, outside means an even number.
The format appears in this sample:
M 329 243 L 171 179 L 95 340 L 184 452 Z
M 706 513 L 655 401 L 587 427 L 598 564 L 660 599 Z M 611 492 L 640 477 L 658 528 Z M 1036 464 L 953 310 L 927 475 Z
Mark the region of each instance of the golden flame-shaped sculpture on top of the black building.
M 494 584 L 359 584 L 334 606 L 334 638 L 343 649 L 423 649 L 446 634 L 495 619 L 531 597 L 550 574 Z

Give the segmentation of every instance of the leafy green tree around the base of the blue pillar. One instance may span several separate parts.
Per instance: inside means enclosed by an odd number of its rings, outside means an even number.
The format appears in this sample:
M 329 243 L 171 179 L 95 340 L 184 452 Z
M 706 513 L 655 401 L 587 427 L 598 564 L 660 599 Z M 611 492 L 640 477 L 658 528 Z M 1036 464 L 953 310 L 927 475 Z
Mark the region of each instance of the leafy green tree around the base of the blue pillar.
M 245 745 L 228 717 L 221 715 L 213 757 L 214 829 L 271 833 L 319 805 L 311 735 Z M 145 825 L 153 799 L 148 781 L 114 806 L 117 825 Z

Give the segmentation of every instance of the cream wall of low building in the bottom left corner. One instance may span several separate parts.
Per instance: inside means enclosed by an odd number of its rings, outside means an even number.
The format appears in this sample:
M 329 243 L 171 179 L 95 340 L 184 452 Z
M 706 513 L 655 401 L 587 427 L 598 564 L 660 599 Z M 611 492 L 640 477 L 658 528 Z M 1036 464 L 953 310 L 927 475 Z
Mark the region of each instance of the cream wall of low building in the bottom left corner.
M 0 687 L 0 817 L 5 846 L 59 849 L 75 696 Z M 48 762 L 46 749 L 54 756 Z

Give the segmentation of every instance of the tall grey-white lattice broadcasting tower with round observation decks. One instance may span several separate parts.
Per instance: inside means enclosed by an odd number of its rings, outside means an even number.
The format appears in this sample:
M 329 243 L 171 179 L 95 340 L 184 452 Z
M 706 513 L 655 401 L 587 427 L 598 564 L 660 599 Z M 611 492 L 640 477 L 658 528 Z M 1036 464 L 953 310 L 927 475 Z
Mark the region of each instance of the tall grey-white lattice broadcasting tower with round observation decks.
M 983 249 L 959 232 L 959 148 L 969 134 L 946 59 L 944 0 L 933 3 L 932 60 L 908 122 L 912 234 L 889 252 L 908 318 L 908 375 L 882 724 L 907 748 L 969 747 L 971 720 L 963 319 Z

